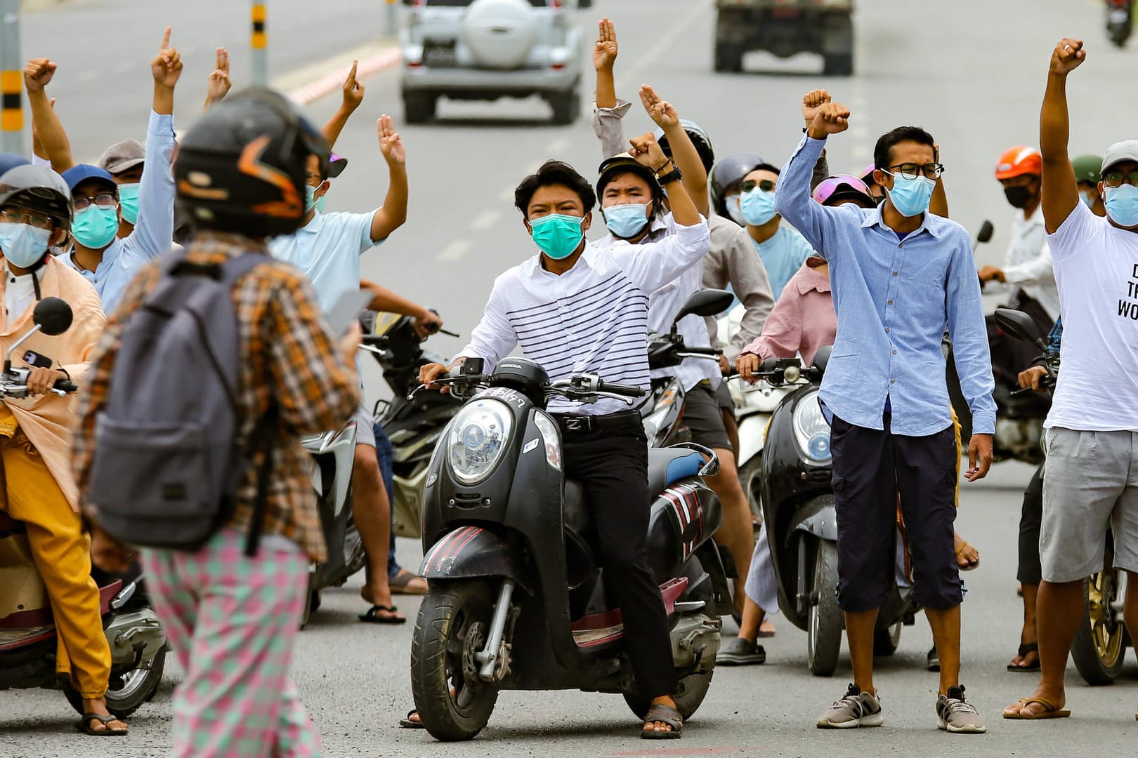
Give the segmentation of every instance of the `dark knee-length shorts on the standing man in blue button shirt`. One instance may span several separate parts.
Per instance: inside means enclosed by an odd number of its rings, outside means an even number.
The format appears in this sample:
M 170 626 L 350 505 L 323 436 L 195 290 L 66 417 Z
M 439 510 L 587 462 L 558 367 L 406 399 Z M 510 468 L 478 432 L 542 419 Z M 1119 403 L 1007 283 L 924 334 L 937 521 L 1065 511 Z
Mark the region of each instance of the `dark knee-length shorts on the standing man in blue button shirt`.
M 913 597 L 924 608 L 947 609 L 964 599 L 953 522 L 959 449 L 956 428 L 927 436 L 853 426 L 834 416 L 838 515 L 838 605 L 850 613 L 880 608 L 896 581 L 897 497 L 909 538 Z

